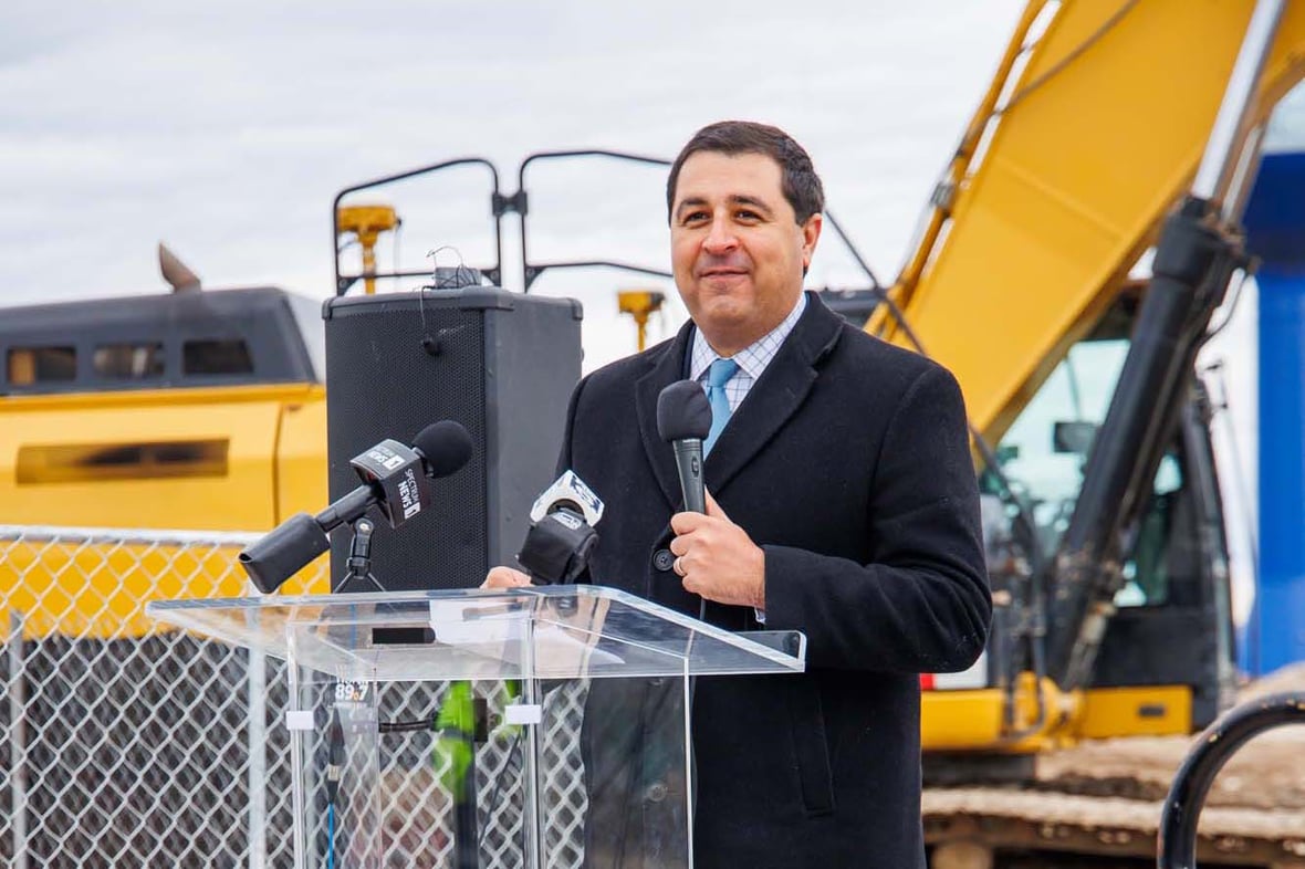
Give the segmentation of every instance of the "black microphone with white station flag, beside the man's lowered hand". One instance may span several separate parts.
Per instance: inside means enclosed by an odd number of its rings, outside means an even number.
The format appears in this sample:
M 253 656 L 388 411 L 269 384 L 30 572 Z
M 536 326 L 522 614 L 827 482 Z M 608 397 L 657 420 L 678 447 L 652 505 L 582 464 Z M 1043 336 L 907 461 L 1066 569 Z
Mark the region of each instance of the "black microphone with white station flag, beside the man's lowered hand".
M 569 585 L 585 570 L 598 544 L 594 531 L 603 500 L 574 471 L 566 471 L 535 500 L 534 525 L 517 553 L 532 583 Z

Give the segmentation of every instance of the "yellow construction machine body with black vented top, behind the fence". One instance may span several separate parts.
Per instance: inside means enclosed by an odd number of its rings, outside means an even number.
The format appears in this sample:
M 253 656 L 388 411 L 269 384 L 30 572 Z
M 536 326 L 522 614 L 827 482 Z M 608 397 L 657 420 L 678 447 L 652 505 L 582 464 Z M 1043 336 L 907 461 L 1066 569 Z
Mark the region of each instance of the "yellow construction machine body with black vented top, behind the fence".
M 21 526 L 0 598 L 30 637 L 146 634 L 146 600 L 244 592 L 239 545 L 55 545 L 43 526 L 264 531 L 326 502 L 320 303 L 185 274 L 0 316 L 0 526 Z

